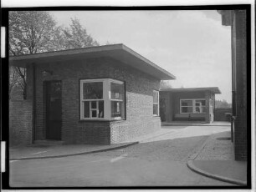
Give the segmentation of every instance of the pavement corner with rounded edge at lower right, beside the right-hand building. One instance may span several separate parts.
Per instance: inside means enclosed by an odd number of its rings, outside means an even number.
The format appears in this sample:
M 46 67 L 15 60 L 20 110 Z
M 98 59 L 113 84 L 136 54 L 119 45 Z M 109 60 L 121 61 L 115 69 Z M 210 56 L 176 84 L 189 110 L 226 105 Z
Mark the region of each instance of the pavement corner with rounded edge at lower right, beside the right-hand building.
M 247 184 L 247 162 L 235 161 L 230 131 L 212 134 L 201 149 L 187 161 L 188 168 L 213 179 Z

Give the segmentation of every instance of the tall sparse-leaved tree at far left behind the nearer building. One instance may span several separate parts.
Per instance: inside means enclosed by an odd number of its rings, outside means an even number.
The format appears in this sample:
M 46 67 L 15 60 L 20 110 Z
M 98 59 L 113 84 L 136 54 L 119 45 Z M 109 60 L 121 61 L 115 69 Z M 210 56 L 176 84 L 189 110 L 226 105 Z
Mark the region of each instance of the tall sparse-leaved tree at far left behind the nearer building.
M 9 13 L 9 55 L 42 53 L 54 50 L 54 19 L 47 12 L 13 11 Z M 10 70 L 10 89 L 18 84 L 26 99 L 26 68 Z M 11 93 L 11 90 L 9 92 Z

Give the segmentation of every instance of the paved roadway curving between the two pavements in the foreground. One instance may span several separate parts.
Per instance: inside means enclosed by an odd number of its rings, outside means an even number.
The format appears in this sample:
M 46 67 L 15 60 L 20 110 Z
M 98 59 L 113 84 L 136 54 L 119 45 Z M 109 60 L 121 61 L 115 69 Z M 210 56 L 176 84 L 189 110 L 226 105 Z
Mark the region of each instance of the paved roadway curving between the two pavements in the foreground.
M 210 130 L 210 129 L 209 129 Z M 182 137 L 182 129 L 125 149 L 57 159 L 10 162 L 13 187 L 231 186 L 187 168 L 207 134 Z M 210 132 L 209 132 L 210 133 Z M 173 134 L 180 137 L 173 138 Z

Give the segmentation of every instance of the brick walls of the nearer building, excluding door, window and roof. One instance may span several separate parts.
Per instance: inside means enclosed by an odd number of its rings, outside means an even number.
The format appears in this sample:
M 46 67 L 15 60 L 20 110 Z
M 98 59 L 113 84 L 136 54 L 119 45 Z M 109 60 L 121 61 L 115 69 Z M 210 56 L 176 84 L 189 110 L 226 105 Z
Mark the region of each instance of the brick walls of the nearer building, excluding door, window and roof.
M 53 71 L 43 76 L 43 71 Z M 28 67 L 28 91 L 32 91 L 32 67 Z M 153 89 L 160 80 L 111 58 L 90 58 L 36 65 L 36 139 L 45 139 L 43 82 L 62 81 L 62 131 L 64 143 L 110 144 L 160 129 L 160 118 L 153 117 Z M 79 79 L 114 78 L 125 82 L 126 120 L 82 122 L 79 120 Z M 28 97 L 32 94 L 28 93 Z M 111 133 L 110 133 L 111 132 Z M 125 136 L 122 133 L 126 133 Z

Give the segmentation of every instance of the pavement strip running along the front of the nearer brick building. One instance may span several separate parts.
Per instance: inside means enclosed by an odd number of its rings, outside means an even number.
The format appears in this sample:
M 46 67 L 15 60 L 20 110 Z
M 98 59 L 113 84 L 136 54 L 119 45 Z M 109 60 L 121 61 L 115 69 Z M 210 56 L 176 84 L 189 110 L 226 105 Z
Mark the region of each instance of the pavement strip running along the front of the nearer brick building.
M 43 142 L 41 144 L 11 147 L 9 149 L 9 159 L 46 159 L 79 154 L 93 154 L 108 150 L 121 149 L 131 146 L 133 144 L 139 144 L 141 141 L 145 139 L 155 138 L 163 134 L 168 134 L 172 131 L 172 129 L 159 129 L 154 133 L 146 134 L 141 137 L 136 137 L 134 139 L 126 141 L 125 143 L 120 144 L 48 144 L 48 142 Z

